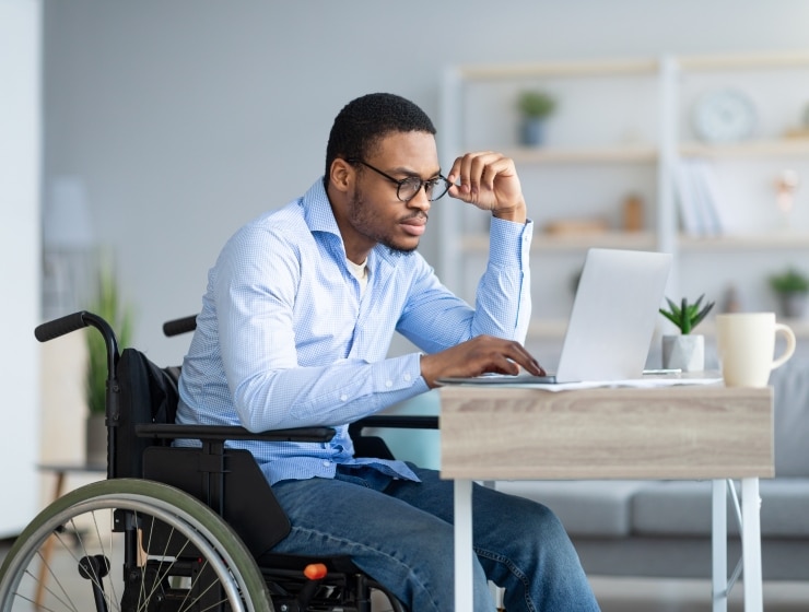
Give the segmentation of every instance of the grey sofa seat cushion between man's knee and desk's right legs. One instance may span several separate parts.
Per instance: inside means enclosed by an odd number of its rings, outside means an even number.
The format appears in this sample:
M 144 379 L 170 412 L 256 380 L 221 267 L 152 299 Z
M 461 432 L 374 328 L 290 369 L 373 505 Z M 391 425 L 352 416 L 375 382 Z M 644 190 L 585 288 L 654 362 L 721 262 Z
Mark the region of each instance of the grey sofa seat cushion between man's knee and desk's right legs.
M 644 481 L 500 481 L 497 491 L 544 504 L 571 536 L 621 538 L 631 532 L 630 502 Z

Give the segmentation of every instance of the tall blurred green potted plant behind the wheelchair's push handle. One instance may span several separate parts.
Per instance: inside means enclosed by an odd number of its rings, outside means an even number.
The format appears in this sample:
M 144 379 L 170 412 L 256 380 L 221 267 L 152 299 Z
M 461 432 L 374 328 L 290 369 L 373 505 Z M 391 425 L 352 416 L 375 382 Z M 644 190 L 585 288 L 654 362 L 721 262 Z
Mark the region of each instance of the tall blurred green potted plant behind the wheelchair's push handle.
M 118 285 L 109 267 L 102 267 L 94 301 L 87 309 L 105 319 L 118 339 L 118 346 L 124 349 L 131 341 L 132 310 L 124 304 Z M 104 338 L 95 328 L 85 330 L 87 346 L 87 369 L 85 391 L 87 402 L 86 421 L 86 462 L 91 466 L 105 464 L 107 461 L 106 428 L 106 389 L 107 389 L 107 349 Z

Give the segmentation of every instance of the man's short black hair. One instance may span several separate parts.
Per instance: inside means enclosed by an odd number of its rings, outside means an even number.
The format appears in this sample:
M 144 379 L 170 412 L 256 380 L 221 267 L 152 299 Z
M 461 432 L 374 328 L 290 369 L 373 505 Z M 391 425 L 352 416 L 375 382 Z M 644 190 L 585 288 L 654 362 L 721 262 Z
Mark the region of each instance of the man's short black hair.
M 331 163 L 337 157 L 364 160 L 368 152 L 391 132 L 427 132 L 435 126 L 415 104 L 395 94 L 367 94 L 351 101 L 335 118 L 326 146 L 328 186 Z

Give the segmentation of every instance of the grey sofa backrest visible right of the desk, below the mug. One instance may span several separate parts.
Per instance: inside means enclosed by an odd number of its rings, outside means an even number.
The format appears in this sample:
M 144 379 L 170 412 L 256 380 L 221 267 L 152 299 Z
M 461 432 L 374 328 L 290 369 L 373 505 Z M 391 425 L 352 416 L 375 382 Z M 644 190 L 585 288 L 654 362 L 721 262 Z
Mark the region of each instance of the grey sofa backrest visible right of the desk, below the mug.
M 770 375 L 775 407 L 775 475 L 809 476 L 809 360 L 794 356 Z

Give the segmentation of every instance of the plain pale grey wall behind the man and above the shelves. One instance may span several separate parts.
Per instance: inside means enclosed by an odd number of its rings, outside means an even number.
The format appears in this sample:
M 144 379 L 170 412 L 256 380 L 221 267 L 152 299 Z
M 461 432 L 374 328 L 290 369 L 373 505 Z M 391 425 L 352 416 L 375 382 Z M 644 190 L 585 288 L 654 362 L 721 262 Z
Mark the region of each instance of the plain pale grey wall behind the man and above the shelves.
M 805 48 L 809 3 L 46 0 L 45 26 L 46 177 L 86 180 L 136 343 L 173 362 L 187 341 L 161 323 L 199 308 L 237 226 L 323 173 L 349 99 L 392 91 L 437 117 L 449 63 Z

